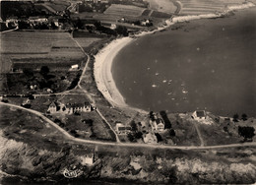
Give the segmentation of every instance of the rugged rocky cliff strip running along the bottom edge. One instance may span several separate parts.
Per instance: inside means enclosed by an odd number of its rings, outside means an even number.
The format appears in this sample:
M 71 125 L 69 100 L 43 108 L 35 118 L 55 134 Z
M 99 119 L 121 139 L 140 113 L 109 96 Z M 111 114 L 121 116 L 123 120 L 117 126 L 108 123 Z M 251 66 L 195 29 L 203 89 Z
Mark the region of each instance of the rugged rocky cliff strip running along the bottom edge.
M 122 150 L 99 152 L 96 163 L 83 165 L 81 155 L 65 146 L 61 152 L 37 149 L 6 139 L 1 133 L 0 178 L 3 184 L 25 182 L 127 181 L 133 183 L 255 183 L 254 148 L 222 151 Z M 129 152 L 130 151 L 130 152 Z M 83 174 L 68 179 L 63 169 Z

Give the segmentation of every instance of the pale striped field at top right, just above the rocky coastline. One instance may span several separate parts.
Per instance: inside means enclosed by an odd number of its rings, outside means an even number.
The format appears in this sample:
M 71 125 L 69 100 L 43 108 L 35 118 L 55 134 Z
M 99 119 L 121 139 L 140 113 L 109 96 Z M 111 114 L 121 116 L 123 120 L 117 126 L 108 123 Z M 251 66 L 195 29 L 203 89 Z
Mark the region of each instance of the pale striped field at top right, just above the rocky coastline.
M 201 15 L 223 12 L 226 6 L 242 4 L 244 0 L 180 0 L 181 15 Z

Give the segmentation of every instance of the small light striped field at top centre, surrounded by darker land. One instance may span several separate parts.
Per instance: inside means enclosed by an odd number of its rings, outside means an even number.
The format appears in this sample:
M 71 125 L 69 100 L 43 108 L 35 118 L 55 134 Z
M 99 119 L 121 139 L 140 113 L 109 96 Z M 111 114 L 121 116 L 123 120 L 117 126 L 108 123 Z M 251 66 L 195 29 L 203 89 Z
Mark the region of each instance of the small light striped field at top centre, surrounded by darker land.
M 145 9 L 131 5 L 112 4 L 104 14 L 116 17 L 139 17 Z

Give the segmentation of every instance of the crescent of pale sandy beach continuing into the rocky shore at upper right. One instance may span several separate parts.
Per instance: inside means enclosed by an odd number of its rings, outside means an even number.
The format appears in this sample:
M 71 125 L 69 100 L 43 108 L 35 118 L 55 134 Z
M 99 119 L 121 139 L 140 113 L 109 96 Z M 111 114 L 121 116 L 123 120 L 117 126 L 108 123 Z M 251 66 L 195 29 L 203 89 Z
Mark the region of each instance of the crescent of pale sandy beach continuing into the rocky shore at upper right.
M 152 34 L 157 31 L 162 31 L 170 26 L 174 25 L 175 23 L 187 22 L 192 20 L 199 20 L 199 19 L 211 19 L 211 18 L 221 18 L 226 16 L 228 13 L 235 11 L 235 10 L 242 10 L 254 7 L 255 5 L 252 2 L 246 2 L 241 5 L 233 5 L 226 8 L 226 10 L 222 13 L 210 13 L 204 15 L 197 15 L 197 16 L 176 16 L 171 17 L 168 20 L 165 20 L 165 26 L 159 27 L 155 31 L 140 31 L 139 33 L 135 33 L 133 36 L 128 37 L 121 37 L 116 38 L 109 42 L 106 46 L 98 51 L 95 55 L 95 64 L 94 64 L 94 75 L 96 80 L 96 87 L 99 92 L 101 92 L 104 98 L 114 107 L 119 108 L 128 108 L 137 110 L 142 113 L 148 113 L 148 111 L 133 107 L 128 105 L 125 101 L 123 95 L 117 89 L 114 79 L 112 77 L 112 64 L 115 56 L 119 53 L 119 51 L 130 44 L 133 40 L 138 37 Z

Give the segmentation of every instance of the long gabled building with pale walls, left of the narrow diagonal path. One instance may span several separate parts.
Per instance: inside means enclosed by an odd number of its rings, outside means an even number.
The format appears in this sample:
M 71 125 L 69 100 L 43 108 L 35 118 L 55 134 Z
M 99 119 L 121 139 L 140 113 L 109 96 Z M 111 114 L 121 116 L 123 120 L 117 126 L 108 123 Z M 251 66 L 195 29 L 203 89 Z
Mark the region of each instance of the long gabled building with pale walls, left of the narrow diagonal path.
M 91 112 L 95 108 L 89 103 L 89 102 L 84 102 L 84 103 L 61 103 L 59 101 L 53 101 L 48 109 L 47 113 L 50 114 L 56 114 L 56 113 L 61 113 L 61 114 L 74 114 L 74 113 L 79 113 L 79 112 Z

